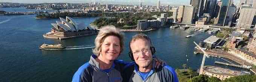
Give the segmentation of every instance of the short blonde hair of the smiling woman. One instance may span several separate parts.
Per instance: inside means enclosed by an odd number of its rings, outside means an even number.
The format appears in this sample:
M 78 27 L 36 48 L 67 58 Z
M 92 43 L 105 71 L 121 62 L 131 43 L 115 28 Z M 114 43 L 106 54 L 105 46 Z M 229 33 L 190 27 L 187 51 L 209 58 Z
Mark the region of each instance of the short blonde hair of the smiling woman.
M 119 41 L 120 41 L 120 53 L 122 53 L 123 46 L 124 46 L 123 33 L 120 32 L 120 29 L 117 29 L 115 26 L 108 25 L 108 26 L 103 26 L 100 29 L 99 34 L 95 38 L 95 41 L 94 41 L 95 48 L 93 48 L 93 54 L 95 54 L 96 56 L 99 56 L 99 54 L 101 53 L 101 45 L 102 45 L 102 43 L 104 42 L 105 38 L 110 36 L 110 35 L 113 35 L 113 36 L 119 38 Z

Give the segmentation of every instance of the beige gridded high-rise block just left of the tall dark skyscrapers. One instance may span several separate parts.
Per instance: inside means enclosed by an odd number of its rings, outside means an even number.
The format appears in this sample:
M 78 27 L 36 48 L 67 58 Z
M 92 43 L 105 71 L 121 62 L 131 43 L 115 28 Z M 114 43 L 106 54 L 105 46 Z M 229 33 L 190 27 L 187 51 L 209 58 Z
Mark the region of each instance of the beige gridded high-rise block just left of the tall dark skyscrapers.
M 188 23 L 188 24 L 192 23 L 194 18 L 194 13 L 195 13 L 194 6 L 184 6 L 182 23 Z

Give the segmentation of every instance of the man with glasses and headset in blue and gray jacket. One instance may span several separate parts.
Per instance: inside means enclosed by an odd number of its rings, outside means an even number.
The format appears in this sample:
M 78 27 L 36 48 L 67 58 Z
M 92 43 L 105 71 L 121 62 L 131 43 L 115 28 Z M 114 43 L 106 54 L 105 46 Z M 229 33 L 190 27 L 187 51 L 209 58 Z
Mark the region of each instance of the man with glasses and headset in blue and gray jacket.
M 155 48 L 147 35 L 134 35 L 130 41 L 130 50 L 129 56 L 136 64 L 125 66 L 123 82 L 178 82 L 172 67 L 164 65 L 154 68 L 152 57 Z

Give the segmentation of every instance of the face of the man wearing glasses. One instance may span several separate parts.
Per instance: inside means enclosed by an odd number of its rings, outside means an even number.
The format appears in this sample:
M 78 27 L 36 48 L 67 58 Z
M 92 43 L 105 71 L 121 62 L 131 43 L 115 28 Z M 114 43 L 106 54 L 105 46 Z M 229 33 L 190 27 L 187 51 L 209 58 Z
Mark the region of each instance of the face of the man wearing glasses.
M 152 62 L 150 44 L 147 40 L 137 39 L 131 43 L 133 58 L 139 67 L 148 67 Z

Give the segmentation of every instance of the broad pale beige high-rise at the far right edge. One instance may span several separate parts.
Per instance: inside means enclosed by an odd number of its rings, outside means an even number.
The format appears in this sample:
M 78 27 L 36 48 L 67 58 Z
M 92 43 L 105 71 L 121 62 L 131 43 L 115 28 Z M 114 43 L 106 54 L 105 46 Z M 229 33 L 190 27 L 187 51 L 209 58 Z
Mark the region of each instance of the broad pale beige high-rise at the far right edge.
M 256 19 L 256 9 L 244 8 L 240 12 L 237 27 L 253 28 Z

